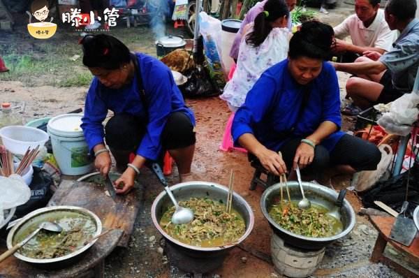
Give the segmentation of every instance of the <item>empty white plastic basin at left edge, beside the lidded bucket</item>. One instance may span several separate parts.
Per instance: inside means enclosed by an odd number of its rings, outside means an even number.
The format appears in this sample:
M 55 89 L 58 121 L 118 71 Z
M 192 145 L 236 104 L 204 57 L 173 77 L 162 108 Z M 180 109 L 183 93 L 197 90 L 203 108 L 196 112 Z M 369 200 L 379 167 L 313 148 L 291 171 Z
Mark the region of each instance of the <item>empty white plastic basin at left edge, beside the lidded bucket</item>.
M 28 147 L 43 147 L 50 138 L 45 131 L 30 126 L 5 126 L 0 129 L 0 137 L 4 147 L 13 154 L 24 154 Z

